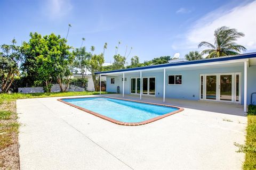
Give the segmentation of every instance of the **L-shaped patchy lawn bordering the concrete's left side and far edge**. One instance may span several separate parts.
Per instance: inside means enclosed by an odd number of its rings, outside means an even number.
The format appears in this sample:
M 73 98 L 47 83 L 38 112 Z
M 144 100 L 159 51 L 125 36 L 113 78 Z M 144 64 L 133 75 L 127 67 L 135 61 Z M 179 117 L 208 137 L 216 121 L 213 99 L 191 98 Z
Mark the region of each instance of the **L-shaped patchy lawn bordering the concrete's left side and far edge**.
M 99 92 L 55 92 L 38 94 L 0 94 L 0 169 L 19 169 L 18 134 L 20 124 L 17 121 L 16 99 L 98 95 Z M 109 94 L 101 92 L 101 94 Z

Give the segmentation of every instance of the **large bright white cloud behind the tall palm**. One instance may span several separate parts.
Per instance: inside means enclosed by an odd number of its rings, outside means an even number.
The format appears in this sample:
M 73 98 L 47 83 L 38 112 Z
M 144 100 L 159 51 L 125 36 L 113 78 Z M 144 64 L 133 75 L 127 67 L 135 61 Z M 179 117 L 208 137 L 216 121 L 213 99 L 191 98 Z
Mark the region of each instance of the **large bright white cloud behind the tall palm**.
M 214 43 L 215 29 L 227 26 L 243 32 L 245 37 L 239 38 L 236 43 L 243 45 L 247 50 L 256 49 L 256 1 L 237 6 L 231 10 L 219 8 L 196 21 L 193 27 L 183 36 L 182 42 L 172 45 L 173 49 L 196 49 L 201 41 Z

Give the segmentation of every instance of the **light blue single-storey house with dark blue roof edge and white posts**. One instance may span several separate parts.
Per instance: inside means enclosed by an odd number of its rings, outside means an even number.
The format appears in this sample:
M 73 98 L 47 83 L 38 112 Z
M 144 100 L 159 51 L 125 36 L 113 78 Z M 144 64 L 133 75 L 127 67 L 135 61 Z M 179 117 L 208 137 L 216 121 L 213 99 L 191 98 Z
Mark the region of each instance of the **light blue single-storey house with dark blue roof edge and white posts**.
M 256 92 L 256 53 L 97 74 L 107 76 L 109 92 L 117 92 L 119 86 L 123 95 L 237 103 L 244 104 L 246 111 L 252 92 Z

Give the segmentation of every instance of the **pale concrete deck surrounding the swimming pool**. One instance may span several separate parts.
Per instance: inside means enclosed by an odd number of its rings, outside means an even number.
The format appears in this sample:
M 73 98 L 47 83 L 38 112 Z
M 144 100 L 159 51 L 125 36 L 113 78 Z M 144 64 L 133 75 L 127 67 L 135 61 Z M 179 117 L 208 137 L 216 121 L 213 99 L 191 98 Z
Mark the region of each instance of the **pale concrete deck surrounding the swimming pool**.
M 245 140 L 247 118 L 241 105 L 167 99 L 164 104 L 185 110 L 146 125 L 122 126 L 59 98 L 65 97 L 17 100 L 21 169 L 242 167 L 244 154 L 234 146 Z M 163 104 L 159 98 L 142 101 Z

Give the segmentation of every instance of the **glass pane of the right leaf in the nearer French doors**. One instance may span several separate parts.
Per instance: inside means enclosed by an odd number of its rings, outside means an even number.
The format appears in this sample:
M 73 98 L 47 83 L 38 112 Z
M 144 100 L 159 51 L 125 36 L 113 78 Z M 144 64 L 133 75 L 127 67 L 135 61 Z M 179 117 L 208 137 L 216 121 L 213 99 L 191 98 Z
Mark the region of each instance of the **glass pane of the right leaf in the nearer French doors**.
M 220 75 L 220 100 L 232 101 L 233 90 L 232 90 L 232 75 Z

